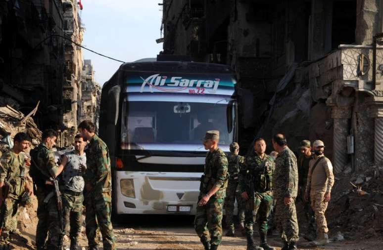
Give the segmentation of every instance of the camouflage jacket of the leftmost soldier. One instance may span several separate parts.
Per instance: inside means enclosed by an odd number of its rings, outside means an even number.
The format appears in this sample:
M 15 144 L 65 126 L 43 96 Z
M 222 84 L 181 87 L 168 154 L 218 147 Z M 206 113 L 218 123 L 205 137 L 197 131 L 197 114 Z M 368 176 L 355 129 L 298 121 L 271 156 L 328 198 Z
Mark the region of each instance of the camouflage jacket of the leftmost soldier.
M 19 196 L 24 192 L 24 154 L 6 150 L 0 158 L 0 182 L 8 182 L 9 193 Z

